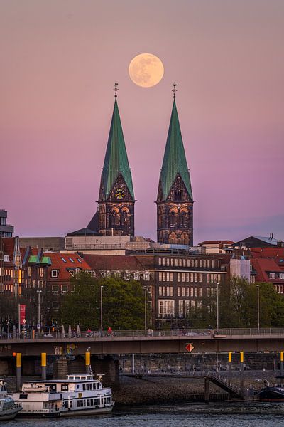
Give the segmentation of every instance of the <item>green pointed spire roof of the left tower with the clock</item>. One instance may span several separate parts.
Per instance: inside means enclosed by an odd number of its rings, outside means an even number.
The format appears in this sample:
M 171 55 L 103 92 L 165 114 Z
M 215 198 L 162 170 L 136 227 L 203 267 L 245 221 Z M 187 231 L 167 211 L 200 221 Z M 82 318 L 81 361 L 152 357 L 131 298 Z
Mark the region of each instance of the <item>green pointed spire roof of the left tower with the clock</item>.
M 119 117 L 119 107 L 115 99 L 111 128 L 109 130 L 109 140 L 107 142 L 107 152 L 104 157 L 104 167 L 102 169 L 102 180 L 104 183 L 104 194 L 106 198 L 109 196 L 119 173 L 123 176 L 131 196 L 134 199 L 129 159 L 127 157 L 124 133 L 122 131 L 121 120 Z

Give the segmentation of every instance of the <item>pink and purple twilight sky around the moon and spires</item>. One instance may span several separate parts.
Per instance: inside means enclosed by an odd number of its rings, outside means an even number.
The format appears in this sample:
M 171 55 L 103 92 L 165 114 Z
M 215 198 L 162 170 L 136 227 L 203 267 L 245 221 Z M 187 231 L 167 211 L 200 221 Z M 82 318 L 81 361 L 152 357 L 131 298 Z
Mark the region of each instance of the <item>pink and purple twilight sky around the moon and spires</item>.
M 155 238 L 172 84 L 195 244 L 284 239 L 283 0 L 0 0 L 0 208 L 20 236 L 86 226 L 119 82 L 136 235 Z M 165 74 L 134 85 L 133 56 Z

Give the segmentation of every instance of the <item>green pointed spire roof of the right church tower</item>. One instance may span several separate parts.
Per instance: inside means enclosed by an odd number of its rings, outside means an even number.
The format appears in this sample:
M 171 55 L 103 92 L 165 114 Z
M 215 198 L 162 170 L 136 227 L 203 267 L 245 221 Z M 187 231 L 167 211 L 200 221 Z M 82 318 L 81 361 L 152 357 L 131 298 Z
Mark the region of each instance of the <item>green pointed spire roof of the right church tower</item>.
M 182 133 L 180 131 L 180 122 L 178 120 L 178 111 L 173 100 L 173 110 L 170 117 L 170 127 L 168 130 L 167 143 L 165 145 L 165 154 L 163 165 L 160 171 L 160 178 L 163 187 L 163 199 L 167 199 L 171 187 L 176 177 L 180 174 L 185 188 L 192 198 L 192 188 L 190 184 L 190 173 L 187 168 L 185 157 L 185 148 L 182 142 Z M 192 198 L 193 199 L 193 198 Z

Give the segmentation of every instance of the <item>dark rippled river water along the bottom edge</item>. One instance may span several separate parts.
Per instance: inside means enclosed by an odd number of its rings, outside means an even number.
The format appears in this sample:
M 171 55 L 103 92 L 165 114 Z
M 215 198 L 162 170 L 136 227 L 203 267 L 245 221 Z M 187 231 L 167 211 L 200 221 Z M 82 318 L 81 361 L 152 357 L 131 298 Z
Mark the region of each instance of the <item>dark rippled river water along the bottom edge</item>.
M 4 421 L 7 427 L 283 427 L 284 404 L 131 406 L 111 415 Z

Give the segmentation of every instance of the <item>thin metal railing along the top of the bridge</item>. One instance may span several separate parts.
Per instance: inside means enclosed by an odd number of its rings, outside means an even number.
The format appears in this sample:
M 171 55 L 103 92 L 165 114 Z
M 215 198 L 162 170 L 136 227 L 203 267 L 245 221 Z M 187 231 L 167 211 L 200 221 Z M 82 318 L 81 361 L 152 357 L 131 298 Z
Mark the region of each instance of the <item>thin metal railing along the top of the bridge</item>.
M 132 339 L 140 339 L 141 337 L 147 339 L 155 339 L 157 337 L 172 337 L 182 338 L 185 337 L 188 339 L 217 339 L 225 338 L 225 337 L 264 337 L 264 336 L 273 336 L 273 335 L 284 335 L 284 328 L 226 328 L 226 329 L 175 329 L 175 330 L 152 330 L 149 329 L 145 333 L 145 330 L 116 330 L 111 331 L 110 333 L 107 331 L 81 331 L 81 332 L 35 332 L 35 331 L 22 331 L 21 334 L 17 332 L 0 332 L 0 340 L 2 339 L 119 339 L 119 338 L 132 338 Z

